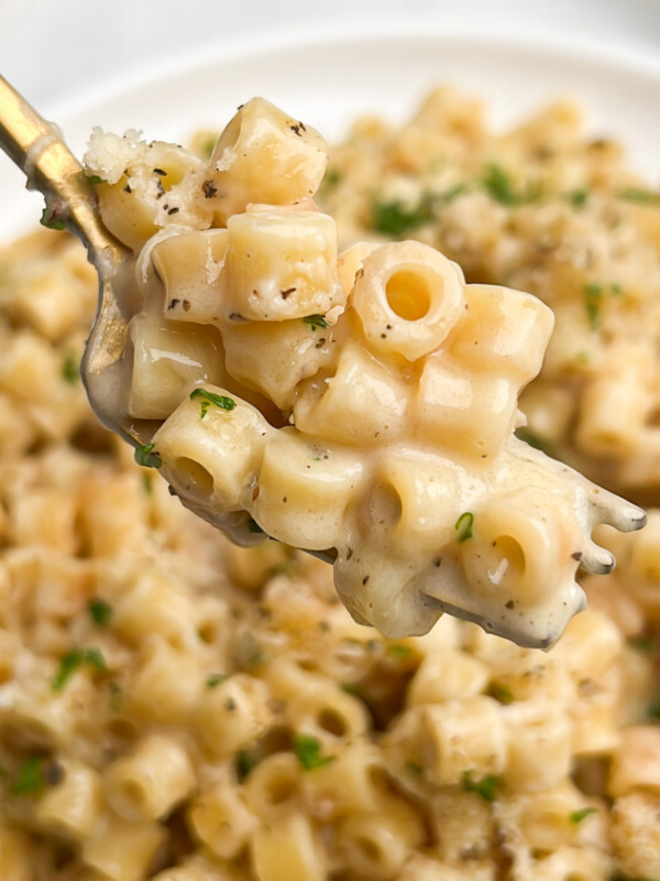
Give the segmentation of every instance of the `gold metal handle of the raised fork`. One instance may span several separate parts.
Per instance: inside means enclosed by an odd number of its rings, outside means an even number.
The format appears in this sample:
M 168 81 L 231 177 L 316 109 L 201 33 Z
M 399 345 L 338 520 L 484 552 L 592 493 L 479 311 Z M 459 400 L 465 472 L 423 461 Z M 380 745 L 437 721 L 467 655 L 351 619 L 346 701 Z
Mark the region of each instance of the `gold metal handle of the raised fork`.
M 123 247 L 108 232 L 94 188 L 57 126 L 46 122 L 0 76 L 0 148 L 46 198 L 45 226 L 67 227 L 82 239 L 91 262 L 117 263 Z

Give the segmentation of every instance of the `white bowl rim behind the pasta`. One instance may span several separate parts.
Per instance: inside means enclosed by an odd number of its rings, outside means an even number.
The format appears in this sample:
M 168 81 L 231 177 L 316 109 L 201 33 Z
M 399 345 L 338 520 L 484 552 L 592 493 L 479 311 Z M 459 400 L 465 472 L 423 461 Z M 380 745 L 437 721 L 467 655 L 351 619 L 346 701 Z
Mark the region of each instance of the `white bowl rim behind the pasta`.
M 355 116 L 375 110 L 402 120 L 430 88 L 451 83 L 483 97 L 493 122 L 510 124 L 539 104 L 574 97 L 594 134 L 622 140 L 630 164 L 652 183 L 660 157 L 660 65 L 619 52 L 554 42 L 440 33 L 296 36 L 182 59 L 142 83 L 116 83 L 62 107 L 56 121 L 80 155 L 92 126 L 186 142 L 222 128 L 238 105 L 262 95 L 318 128 L 330 142 Z M 38 109 L 38 108 L 37 108 Z M 43 199 L 0 155 L 0 241 L 34 226 Z

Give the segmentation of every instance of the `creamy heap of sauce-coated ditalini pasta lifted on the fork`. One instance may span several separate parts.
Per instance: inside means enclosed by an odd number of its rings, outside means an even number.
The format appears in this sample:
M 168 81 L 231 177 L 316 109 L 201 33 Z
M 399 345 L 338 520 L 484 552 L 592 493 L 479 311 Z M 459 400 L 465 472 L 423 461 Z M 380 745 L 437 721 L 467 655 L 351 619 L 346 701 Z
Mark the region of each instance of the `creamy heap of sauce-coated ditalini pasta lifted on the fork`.
M 391 638 L 449 611 L 551 645 L 584 607 L 578 568 L 614 565 L 592 530 L 645 515 L 513 434 L 550 309 L 418 241 L 338 255 L 312 202 L 324 141 L 260 98 L 208 165 L 101 131 L 85 162 L 134 252 L 123 355 L 95 388 L 138 460 L 238 544 L 333 562 Z

